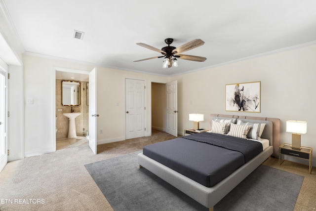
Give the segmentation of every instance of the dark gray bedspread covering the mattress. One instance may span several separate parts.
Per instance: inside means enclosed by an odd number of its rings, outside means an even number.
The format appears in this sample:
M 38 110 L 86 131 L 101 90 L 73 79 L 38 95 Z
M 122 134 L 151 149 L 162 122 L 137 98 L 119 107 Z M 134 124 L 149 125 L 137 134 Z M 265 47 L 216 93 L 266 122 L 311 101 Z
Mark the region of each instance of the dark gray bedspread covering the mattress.
M 147 157 L 206 187 L 214 186 L 260 152 L 259 142 L 206 132 L 143 148 Z

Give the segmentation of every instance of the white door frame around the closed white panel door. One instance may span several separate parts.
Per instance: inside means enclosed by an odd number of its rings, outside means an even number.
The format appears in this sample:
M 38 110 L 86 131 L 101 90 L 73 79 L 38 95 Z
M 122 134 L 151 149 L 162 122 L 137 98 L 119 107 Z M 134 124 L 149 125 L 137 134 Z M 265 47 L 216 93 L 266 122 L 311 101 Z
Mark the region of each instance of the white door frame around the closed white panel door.
M 139 81 L 144 81 L 145 82 L 145 127 L 146 127 L 146 131 L 145 131 L 145 137 L 146 136 L 151 136 L 152 135 L 152 127 L 150 126 L 150 134 L 148 133 L 149 128 L 147 128 L 147 112 L 148 112 L 148 108 L 147 108 L 147 89 L 148 89 L 148 85 L 147 85 L 147 80 L 146 79 L 140 79 L 140 78 L 133 78 L 133 77 L 124 77 L 123 78 L 123 87 L 124 87 L 124 140 L 126 140 L 126 79 L 131 79 L 131 80 L 139 80 Z

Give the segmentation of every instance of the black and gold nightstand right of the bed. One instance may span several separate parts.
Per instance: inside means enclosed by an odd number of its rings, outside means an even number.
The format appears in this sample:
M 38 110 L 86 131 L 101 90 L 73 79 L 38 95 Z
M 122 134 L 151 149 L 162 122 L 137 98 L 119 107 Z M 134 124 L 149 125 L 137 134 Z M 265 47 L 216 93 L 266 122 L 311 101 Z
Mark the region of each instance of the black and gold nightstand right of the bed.
M 279 147 L 279 157 L 278 157 L 279 165 L 281 165 L 283 163 L 283 161 L 285 160 L 285 158 L 284 158 L 285 155 L 292 156 L 292 157 L 300 158 L 303 160 L 308 160 L 309 161 L 309 173 L 311 173 L 312 168 L 313 168 L 312 153 L 313 153 L 313 148 L 311 148 L 311 147 L 303 147 L 302 146 L 301 150 L 296 150 L 296 149 L 291 148 L 291 144 L 284 143 Z M 281 156 L 282 156 L 282 159 L 281 159 Z

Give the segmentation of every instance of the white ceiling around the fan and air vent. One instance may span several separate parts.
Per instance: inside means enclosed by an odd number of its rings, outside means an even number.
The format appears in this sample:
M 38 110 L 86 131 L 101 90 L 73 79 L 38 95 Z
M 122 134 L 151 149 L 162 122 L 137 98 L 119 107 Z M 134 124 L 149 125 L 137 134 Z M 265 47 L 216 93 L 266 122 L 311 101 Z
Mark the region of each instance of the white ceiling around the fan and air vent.
M 315 0 L 2 0 L 25 53 L 172 76 L 316 41 Z M 83 40 L 73 38 L 84 32 Z M 194 39 L 204 45 L 162 69 L 161 49 Z

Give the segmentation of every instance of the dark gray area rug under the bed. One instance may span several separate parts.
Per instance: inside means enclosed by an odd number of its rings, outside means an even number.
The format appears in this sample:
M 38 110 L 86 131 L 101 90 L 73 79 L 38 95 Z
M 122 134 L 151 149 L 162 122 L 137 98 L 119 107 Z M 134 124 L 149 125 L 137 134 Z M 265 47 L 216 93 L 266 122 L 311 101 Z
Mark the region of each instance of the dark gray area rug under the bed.
M 147 169 L 130 153 L 84 165 L 115 211 L 208 211 Z M 261 165 L 214 211 L 292 211 L 304 176 Z

